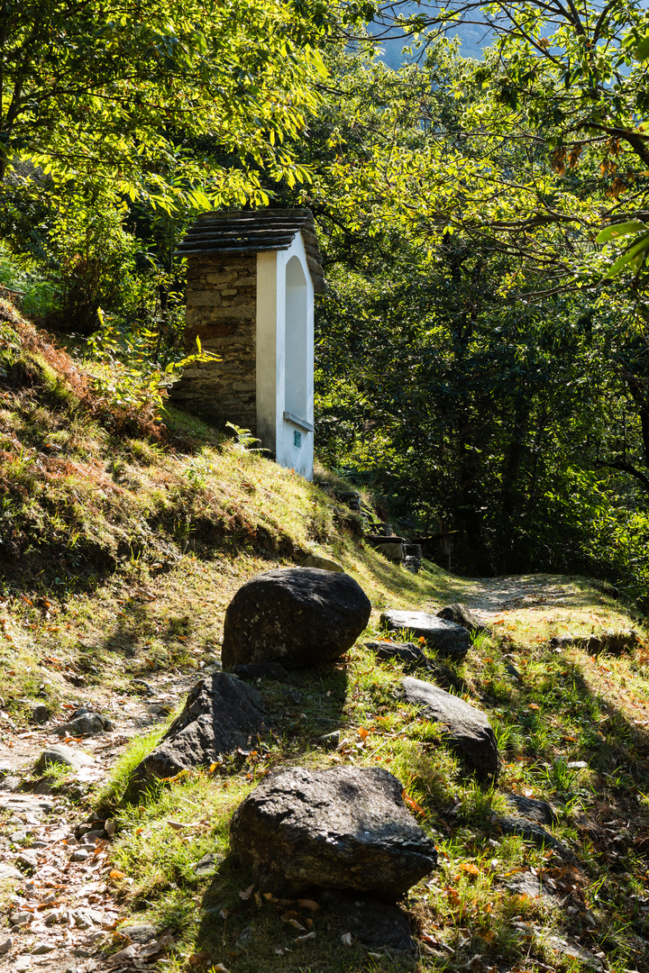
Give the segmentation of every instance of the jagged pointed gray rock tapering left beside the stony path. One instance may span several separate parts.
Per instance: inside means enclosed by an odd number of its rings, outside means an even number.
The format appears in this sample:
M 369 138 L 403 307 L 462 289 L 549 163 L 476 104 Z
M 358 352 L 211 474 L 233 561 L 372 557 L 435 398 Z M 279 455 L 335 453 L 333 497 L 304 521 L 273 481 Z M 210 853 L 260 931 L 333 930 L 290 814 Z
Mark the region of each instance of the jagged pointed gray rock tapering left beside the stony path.
M 135 768 L 132 782 L 209 767 L 224 754 L 246 747 L 268 726 L 268 713 L 253 686 L 229 672 L 212 672 L 190 691 L 159 745 Z

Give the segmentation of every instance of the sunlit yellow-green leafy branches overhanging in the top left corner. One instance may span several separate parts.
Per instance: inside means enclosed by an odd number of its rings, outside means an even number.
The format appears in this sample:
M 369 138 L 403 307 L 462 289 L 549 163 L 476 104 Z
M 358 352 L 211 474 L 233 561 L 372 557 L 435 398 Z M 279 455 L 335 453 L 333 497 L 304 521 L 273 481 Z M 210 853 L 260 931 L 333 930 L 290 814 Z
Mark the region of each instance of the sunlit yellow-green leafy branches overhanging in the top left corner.
M 335 18 L 277 0 L 3 8 L 0 175 L 29 160 L 167 209 L 181 198 L 263 201 L 251 165 L 305 178 L 283 143 L 314 103 L 317 49 Z M 188 151 L 197 139 L 198 154 Z M 220 165 L 216 141 L 242 166 Z

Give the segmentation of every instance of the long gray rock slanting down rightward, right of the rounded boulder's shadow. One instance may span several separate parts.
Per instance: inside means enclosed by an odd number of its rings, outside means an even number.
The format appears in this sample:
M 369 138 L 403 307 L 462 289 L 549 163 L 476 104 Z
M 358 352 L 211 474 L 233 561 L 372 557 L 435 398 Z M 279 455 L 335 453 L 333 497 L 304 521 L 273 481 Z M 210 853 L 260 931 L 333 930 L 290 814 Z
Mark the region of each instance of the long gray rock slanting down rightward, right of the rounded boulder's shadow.
M 401 685 L 407 703 L 421 707 L 426 719 L 446 725 L 452 748 L 470 767 L 482 777 L 498 774 L 498 747 L 485 713 L 432 682 L 406 676 Z

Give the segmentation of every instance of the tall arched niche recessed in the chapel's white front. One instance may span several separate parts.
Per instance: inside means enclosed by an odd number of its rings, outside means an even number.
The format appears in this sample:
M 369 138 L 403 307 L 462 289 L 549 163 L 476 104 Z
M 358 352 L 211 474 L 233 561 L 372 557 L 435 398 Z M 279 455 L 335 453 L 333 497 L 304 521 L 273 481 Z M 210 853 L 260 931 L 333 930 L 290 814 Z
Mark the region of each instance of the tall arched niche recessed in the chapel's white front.
M 304 418 L 308 408 L 308 294 L 302 262 L 291 257 L 286 265 L 284 328 L 284 409 Z

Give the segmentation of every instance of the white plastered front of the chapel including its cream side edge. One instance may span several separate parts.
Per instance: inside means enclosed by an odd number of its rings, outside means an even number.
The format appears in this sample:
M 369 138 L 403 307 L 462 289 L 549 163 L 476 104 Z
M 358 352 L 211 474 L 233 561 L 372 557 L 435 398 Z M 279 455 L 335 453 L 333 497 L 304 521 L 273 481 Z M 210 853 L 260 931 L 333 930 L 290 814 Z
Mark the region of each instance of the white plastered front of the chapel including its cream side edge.
M 257 254 L 257 435 L 280 466 L 313 479 L 313 284 L 301 234 Z

